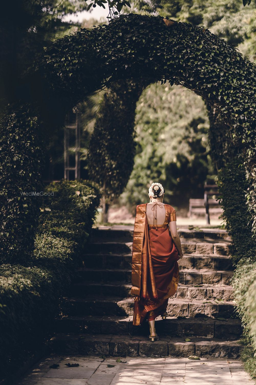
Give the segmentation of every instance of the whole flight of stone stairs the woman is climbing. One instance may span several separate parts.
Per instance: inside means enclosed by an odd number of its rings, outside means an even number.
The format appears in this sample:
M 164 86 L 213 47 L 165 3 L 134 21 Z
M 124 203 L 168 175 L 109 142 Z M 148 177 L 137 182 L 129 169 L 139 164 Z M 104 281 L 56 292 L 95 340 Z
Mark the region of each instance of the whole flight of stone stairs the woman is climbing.
M 224 230 L 216 229 L 182 229 L 179 235 L 185 256 L 178 261 L 180 282 L 169 298 L 167 320 L 156 320 L 159 341 L 149 341 L 148 323 L 132 325 L 132 228 L 100 228 L 92 231 L 84 266 L 77 271 L 63 316 L 56 320 L 52 351 L 238 358 L 242 328 L 230 286 L 230 239 Z

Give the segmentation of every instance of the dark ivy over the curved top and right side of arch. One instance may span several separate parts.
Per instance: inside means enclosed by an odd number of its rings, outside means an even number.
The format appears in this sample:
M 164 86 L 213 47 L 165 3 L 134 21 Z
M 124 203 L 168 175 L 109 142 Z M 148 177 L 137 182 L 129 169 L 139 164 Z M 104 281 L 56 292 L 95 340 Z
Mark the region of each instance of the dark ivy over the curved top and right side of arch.
M 166 27 L 161 17 L 130 14 L 56 40 L 38 67 L 51 73 L 55 90 L 74 101 L 115 79 L 135 76 L 193 89 L 215 107 L 234 144 L 241 145 L 250 186 L 248 207 L 251 216 L 256 215 L 256 70 L 225 40 L 204 27 L 182 22 Z M 253 228 L 256 231 L 256 222 Z

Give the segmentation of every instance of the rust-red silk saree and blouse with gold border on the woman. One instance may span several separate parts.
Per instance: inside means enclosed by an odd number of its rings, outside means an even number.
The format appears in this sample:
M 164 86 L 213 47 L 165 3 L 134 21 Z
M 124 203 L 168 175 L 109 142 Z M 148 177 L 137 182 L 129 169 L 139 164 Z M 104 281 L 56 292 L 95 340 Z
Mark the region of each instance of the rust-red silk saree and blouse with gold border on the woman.
M 158 228 L 147 223 L 146 203 L 136 208 L 132 244 L 133 325 L 140 325 L 145 318 L 154 320 L 164 313 L 168 298 L 177 290 L 180 258 L 168 225 L 172 206 L 164 206 L 166 220 Z

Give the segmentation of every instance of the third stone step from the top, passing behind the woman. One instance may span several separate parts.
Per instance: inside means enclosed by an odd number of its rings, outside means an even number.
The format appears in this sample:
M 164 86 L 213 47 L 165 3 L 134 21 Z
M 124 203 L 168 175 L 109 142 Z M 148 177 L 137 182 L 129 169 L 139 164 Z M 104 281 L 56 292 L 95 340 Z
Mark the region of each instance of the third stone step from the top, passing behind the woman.
M 132 254 L 87 254 L 83 256 L 84 266 L 90 269 L 127 269 L 132 267 Z M 228 256 L 216 255 L 184 255 L 178 260 L 180 269 L 228 270 L 232 271 L 233 265 Z

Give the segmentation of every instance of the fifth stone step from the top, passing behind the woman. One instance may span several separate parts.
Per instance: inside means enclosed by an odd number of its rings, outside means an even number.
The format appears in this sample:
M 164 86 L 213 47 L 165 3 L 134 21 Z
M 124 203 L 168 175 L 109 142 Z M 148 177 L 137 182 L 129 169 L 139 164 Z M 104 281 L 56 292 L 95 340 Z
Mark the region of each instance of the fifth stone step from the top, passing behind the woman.
M 122 282 L 74 284 L 70 289 L 70 295 L 84 298 L 89 294 L 105 296 L 127 297 L 130 295 L 132 285 Z M 188 298 L 190 300 L 215 300 L 216 298 L 231 301 L 234 299 L 232 286 L 209 285 L 184 285 L 178 284 L 177 291 L 171 298 Z

